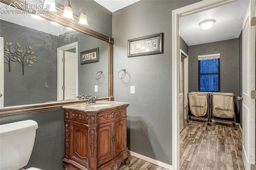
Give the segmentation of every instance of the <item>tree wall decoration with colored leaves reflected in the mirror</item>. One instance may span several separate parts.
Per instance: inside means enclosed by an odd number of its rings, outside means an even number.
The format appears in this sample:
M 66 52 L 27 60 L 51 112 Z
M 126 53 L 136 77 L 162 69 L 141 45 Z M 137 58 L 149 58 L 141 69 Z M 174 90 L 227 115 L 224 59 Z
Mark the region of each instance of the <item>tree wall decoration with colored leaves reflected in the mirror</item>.
M 32 67 L 32 64 L 34 63 L 34 61 L 37 61 L 36 56 L 34 55 L 35 51 L 30 51 L 33 49 L 31 45 L 27 45 L 26 50 L 23 51 L 20 43 L 17 42 L 16 45 L 14 46 L 15 52 L 13 51 L 14 49 L 13 49 L 12 42 L 10 43 L 6 42 L 5 45 L 6 47 L 4 47 L 5 49 L 4 57 L 7 60 L 7 62 L 4 62 L 4 63 L 9 65 L 9 72 L 10 72 L 11 61 L 18 62 L 22 65 L 22 75 L 24 75 L 25 66 Z

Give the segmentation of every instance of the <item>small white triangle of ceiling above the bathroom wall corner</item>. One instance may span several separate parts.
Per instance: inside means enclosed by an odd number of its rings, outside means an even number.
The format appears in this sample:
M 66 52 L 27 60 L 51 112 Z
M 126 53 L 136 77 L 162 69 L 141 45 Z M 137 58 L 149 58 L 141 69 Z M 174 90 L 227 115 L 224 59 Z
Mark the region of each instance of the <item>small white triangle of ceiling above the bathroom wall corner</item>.
M 101 6 L 105 7 L 106 9 L 108 9 L 110 12 L 115 12 L 126 6 L 134 4 L 139 0 L 94 0 L 94 1 L 100 4 Z

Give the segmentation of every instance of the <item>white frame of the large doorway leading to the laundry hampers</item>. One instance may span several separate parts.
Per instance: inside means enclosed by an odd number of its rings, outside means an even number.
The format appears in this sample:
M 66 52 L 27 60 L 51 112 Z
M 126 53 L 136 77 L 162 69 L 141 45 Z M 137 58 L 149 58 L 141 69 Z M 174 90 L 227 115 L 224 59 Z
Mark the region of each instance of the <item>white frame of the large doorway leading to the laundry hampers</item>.
M 218 6 L 235 2 L 236 0 L 203 0 L 172 11 L 172 169 L 180 167 L 180 26 L 179 18 L 197 12 L 202 12 Z M 254 134 L 255 136 L 255 134 Z

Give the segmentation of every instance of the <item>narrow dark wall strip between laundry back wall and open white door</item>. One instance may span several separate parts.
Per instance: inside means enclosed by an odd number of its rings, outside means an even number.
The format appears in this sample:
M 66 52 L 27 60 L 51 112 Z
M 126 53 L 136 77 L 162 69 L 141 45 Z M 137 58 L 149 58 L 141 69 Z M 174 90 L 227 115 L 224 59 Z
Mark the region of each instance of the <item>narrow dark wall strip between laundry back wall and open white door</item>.
M 243 32 L 241 32 L 240 36 L 239 36 L 239 96 L 242 97 L 243 96 L 243 91 L 242 91 L 242 85 L 243 85 L 243 82 L 242 82 L 242 47 L 243 47 Z M 239 105 L 239 110 L 240 110 L 240 126 L 243 128 L 243 117 L 242 117 L 242 105 L 243 105 L 243 102 L 242 101 L 238 101 L 236 100 L 237 104 Z

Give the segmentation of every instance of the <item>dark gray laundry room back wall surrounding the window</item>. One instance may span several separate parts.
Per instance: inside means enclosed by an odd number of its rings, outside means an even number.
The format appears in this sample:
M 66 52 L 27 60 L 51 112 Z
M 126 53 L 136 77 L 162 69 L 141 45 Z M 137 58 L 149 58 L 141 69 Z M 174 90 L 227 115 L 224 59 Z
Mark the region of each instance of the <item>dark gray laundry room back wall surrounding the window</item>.
M 220 53 L 220 92 L 239 96 L 238 38 L 188 47 L 188 91 L 198 91 L 198 55 L 215 53 Z

